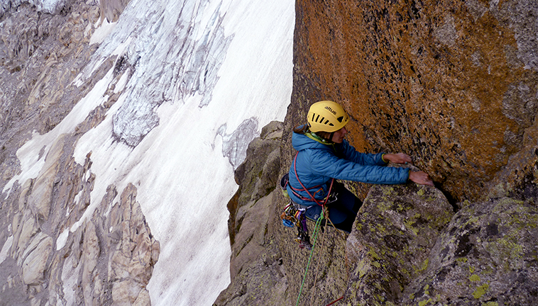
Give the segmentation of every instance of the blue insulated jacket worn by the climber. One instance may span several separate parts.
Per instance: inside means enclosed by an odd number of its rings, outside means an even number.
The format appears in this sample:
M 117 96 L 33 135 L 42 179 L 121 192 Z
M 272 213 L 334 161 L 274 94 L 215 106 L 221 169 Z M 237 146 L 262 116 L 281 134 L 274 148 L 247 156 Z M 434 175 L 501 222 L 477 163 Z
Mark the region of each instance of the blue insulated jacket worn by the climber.
M 292 145 L 298 151 L 297 159 L 290 166 L 290 182 L 287 193 L 295 203 L 314 205 L 306 191 L 297 181 L 297 176 L 309 193 L 322 200 L 329 191 L 331 178 L 363 183 L 397 184 L 409 179 L 409 169 L 386 166 L 383 153 L 359 153 L 344 140 L 341 144 L 324 144 L 307 135 L 292 135 Z M 295 162 L 297 164 L 295 165 Z M 297 169 L 297 176 L 295 175 Z M 296 190 L 294 191 L 293 188 Z M 297 197 L 298 193 L 302 198 Z

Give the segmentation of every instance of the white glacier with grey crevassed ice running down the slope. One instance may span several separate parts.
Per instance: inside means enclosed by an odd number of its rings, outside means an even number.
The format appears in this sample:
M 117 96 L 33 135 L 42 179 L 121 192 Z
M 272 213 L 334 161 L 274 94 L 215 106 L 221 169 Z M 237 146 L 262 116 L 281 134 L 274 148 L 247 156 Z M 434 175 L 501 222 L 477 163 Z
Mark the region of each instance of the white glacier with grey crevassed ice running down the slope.
M 1 1 L 0 15 L 20 2 Z M 28 2 L 48 13 L 65 4 Z M 4 191 L 35 178 L 53 142 L 105 103 L 121 74 L 117 102 L 75 147 L 79 164 L 91 152 L 96 179 L 92 204 L 69 230 L 92 215 L 107 186 L 133 183 L 161 247 L 148 285 L 153 305 L 212 305 L 230 282 L 234 169 L 290 103 L 294 23 L 293 1 L 131 0 L 118 21 L 101 21 L 92 37 L 99 49 L 75 84 L 109 58 L 114 67 L 62 123 L 18 150 L 22 173 Z

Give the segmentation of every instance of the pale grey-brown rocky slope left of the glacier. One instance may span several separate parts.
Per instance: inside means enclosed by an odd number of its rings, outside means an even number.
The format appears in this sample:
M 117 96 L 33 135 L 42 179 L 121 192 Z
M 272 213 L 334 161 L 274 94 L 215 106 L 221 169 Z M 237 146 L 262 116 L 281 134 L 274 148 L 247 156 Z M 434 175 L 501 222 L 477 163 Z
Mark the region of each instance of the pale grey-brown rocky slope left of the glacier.
M 0 18 L 0 304 L 150 305 L 146 285 L 160 253 L 146 225 L 136 188 L 118 198 L 115 186 L 93 215 L 81 220 L 94 187 L 91 153 L 77 164 L 79 137 L 104 120 L 109 99 L 74 131 L 59 135 L 35 179 L 4 186 L 21 166 L 16 152 L 33 133 L 53 130 L 112 67 L 73 80 L 97 45 L 89 45 L 100 8 L 71 1 L 60 14 L 9 2 Z M 3 4 L 4 5 L 4 4 Z

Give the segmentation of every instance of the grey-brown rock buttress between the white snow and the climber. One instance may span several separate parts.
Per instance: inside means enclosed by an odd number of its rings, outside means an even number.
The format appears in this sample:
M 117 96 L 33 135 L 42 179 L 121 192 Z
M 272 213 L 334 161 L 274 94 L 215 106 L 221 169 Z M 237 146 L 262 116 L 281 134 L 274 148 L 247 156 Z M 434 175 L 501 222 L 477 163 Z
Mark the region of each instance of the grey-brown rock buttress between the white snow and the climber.
M 235 171 L 239 185 L 228 203 L 231 284 L 214 305 L 287 305 L 286 271 L 275 243 L 275 187 L 280 169 L 282 123 L 266 125 Z

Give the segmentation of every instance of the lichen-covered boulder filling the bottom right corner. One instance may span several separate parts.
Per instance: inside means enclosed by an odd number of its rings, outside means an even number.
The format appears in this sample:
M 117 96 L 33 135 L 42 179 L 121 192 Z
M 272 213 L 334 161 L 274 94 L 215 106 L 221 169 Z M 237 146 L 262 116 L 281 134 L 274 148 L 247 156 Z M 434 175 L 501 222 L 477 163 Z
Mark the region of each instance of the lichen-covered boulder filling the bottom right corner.
M 464 205 L 444 229 L 402 305 L 535 305 L 537 199 Z

